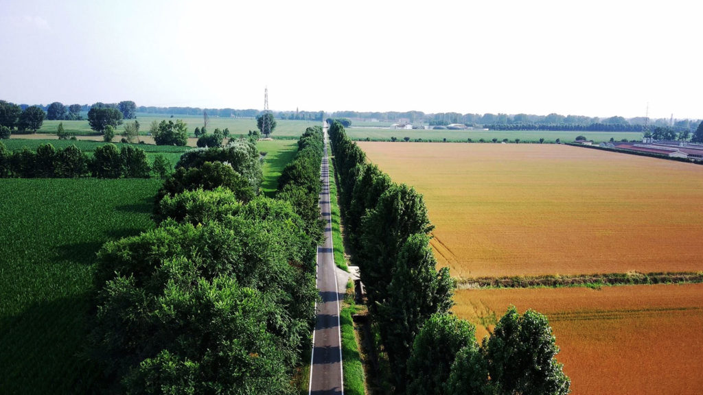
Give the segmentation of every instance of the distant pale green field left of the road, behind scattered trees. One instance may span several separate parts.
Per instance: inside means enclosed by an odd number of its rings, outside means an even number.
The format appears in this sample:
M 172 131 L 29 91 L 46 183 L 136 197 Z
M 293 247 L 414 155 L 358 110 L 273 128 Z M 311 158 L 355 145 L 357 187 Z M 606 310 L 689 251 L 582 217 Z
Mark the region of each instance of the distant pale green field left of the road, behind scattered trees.
M 174 115 L 171 118 L 170 115 L 165 114 L 143 114 L 141 112 L 137 113 L 137 120 L 139 121 L 139 134 L 146 135 L 149 131 L 151 122 L 162 120 L 173 120 L 182 119 L 188 125 L 188 134 L 193 136 L 193 132 L 196 127 L 202 128 L 202 117 L 193 117 L 188 115 Z M 63 122 L 63 128 L 65 131 L 75 133 L 79 136 L 90 136 L 95 135 L 96 132 L 90 129 L 87 119 L 82 121 L 44 121 L 39 129 L 39 134 L 56 134 L 56 128 L 59 122 Z M 271 134 L 272 138 L 298 138 L 302 131 L 307 127 L 312 127 L 320 124 L 320 122 L 314 121 L 296 121 L 288 119 L 276 119 L 276 129 L 273 130 Z M 257 130 L 257 120 L 253 118 L 219 118 L 210 117 L 207 123 L 207 131 L 212 132 L 214 129 L 224 129 L 229 128 L 230 136 L 237 137 L 241 135 L 247 135 L 250 130 Z M 119 136 L 122 133 L 122 126 L 118 126 L 116 129 L 115 136 L 116 140 L 120 140 Z

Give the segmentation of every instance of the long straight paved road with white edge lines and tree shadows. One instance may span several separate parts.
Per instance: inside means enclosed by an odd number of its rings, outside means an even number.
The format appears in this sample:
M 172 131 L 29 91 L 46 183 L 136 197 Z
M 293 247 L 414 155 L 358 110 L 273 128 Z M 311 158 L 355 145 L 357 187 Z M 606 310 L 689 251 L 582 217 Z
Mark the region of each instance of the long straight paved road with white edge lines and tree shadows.
M 313 335 L 310 368 L 311 395 L 344 394 L 342 387 L 342 347 L 340 345 L 340 293 L 335 274 L 330 215 L 330 179 L 327 160 L 327 129 L 322 159 L 320 210 L 326 221 L 325 242 L 317 248 L 317 287 L 322 302 L 317 304 L 317 324 Z

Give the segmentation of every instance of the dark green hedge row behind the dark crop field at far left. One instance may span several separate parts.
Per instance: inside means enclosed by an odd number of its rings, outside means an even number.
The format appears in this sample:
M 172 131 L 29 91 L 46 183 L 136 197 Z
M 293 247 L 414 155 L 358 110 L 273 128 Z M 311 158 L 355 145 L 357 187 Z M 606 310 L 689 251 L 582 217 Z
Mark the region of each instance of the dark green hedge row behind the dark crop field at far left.
M 155 171 L 165 174 L 169 171 L 167 160 L 157 157 Z M 151 167 L 146 153 L 131 145 L 118 150 L 114 144 L 98 146 L 89 157 L 75 145 L 63 149 L 53 148 L 44 143 L 36 151 L 23 148 L 20 151 L 8 150 L 0 143 L 0 178 L 74 178 L 98 177 L 103 179 L 140 178 L 150 176 Z

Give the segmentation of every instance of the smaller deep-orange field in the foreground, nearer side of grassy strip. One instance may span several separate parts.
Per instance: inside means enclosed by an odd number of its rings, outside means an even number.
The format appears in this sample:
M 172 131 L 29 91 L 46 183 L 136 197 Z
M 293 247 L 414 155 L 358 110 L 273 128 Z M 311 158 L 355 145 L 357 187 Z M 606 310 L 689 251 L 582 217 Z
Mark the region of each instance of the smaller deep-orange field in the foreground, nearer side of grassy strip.
M 703 284 L 458 290 L 477 337 L 510 304 L 545 314 L 574 394 L 699 394 Z M 492 328 L 492 325 L 489 325 Z

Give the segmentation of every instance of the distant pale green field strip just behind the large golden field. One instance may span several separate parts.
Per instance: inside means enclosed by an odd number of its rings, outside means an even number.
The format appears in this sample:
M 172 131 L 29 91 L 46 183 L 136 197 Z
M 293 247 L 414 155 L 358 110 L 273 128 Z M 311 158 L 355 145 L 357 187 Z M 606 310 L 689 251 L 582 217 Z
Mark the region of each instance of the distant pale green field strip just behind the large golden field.
M 554 142 L 560 138 L 562 142 L 572 142 L 576 140 L 576 136 L 585 136 L 588 139 L 600 143 L 609 141 L 614 138 L 615 141 L 620 141 L 623 138 L 628 140 L 639 140 L 642 138 L 641 133 L 633 132 L 617 132 L 617 131 L 502 131 L 502 130 L 391 130 L 382 128 L 354 128 L 345 129 L 347 136 L 353 140 L 363 140 L 370 138 L 374 141 L 389 141 L 391 137 L 401 141 L 404 137 L 410 137 L 411 141 L 416 138 L 422 138 L 425 141 L 442 141 L 446 138 L 447 141 L 467 141 L 471 138 L 472 141 L 478 142 L 483 138 L 485 141 L 491 141 L 493 138 L 498 138 L 498 141 L 503 141 L 503 138 L 508 138 L 510 142 L 514 142 L 515 138 L 520 138 L 520 141 L 539 141 L 544 138 L 546 142 Z

